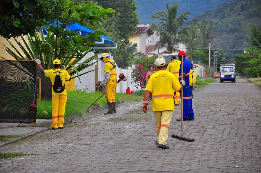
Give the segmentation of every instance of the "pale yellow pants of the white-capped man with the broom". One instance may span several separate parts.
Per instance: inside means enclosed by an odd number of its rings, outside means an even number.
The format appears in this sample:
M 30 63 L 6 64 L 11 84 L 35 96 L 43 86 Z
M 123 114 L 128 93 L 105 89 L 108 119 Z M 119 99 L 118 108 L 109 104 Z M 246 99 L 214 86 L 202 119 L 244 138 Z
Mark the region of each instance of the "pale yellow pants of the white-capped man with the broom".
M 154 111 L 159 144 L 167 144 L 169 123 L 171 121 L 172 113 L 172 110 Z

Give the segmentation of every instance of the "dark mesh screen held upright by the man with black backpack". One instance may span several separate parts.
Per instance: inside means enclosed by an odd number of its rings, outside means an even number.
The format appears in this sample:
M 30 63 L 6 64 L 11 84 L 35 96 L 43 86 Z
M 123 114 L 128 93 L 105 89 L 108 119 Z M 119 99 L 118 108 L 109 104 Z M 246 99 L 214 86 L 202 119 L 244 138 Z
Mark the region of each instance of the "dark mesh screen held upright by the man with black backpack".
M 1 123 L 36 122 L 36 113 L 28 112 L 33 103 L 35 79 L 35 61 L 0 61 Z

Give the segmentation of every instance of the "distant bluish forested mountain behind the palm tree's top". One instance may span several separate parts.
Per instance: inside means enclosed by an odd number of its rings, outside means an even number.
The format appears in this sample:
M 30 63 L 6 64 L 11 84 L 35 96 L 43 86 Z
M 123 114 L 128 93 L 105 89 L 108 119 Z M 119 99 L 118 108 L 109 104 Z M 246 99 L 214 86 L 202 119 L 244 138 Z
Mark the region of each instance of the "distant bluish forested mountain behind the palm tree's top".
M 230 2 L 231 0 L 134 0 L 137 3 L 136 12 L 139 15 L 140 24 L 151 24 L 157 22 L 151 18 L 151 15 L 158 11 L 166 11 L 166 3 L 173 5 L 174 2 L 179 4 L 179 13 L 183 11 L 190 11 L 189 18 L 200 15 L 202 12 L 215 8 L 224 2 Z

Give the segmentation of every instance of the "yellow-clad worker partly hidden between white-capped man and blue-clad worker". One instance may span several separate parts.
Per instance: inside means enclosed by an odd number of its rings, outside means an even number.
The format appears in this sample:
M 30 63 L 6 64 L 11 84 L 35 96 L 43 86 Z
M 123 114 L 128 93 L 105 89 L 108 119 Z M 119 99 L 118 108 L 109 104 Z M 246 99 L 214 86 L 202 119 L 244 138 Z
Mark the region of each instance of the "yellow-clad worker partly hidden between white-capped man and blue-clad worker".
M 175 56 L 172 56 L 171 57 L 171 62 L 168 64 L 168 67 L 167 67 L 167 71 L 168 72 L 171 72 L 172 74 L 174 74 L 174 76 L 179 79 L 179 70 L 180 70 L 180 63 L 181 61 L 177 60 L 177 58 Z M 173 89 L 173 92 L 174 92 L 174 101 L 175 101 L 175 106 L 178 106 L 180 105 L 180 93 L 175 91 Z

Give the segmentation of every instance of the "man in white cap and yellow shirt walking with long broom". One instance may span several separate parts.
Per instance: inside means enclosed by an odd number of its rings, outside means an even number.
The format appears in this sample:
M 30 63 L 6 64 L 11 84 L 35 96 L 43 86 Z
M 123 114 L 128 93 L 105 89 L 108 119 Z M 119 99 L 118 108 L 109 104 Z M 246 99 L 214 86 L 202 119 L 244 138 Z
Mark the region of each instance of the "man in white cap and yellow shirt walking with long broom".
M 144 94 L 142 110 L 147 112 L 147 100 L 152 93 L 152 107 L 156 119 L 157 140 L 155 141 L 161 149 L 169 149 L 166 145 L 168 138 L 169 124 L 172 113 L 174 111 L 173 92 L 180 91 L 185 81 L 178 81 L 178 79 L 166 70 L 166 61 L 164 58 L 157 58 L 155 60 L 157 72 L 152 74 L 146 91 Z

